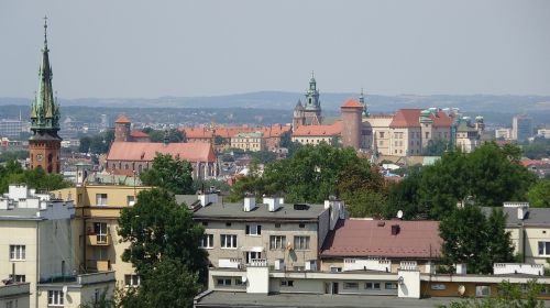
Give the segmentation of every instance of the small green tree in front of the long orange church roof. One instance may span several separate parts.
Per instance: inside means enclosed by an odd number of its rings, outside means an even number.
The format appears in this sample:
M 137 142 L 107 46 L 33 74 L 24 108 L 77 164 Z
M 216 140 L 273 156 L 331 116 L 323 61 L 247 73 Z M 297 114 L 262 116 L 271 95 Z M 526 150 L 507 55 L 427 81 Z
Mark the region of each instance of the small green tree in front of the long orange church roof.
M 157 153 L 152 168 L 141 173 L 144 185 L 157 186 L 173 194 L 193 194 L 193 167 L 187 161 Z

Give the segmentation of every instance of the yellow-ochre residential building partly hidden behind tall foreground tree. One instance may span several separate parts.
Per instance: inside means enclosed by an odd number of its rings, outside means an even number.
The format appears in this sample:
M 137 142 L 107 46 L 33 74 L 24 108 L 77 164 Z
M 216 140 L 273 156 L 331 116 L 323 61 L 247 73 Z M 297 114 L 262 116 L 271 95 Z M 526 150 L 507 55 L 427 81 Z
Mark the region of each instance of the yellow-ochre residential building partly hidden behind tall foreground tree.
M 74 200 L 76 198 L 75 255 L 82 273 L 114 271 L 116 280 L 121 286 L 139 284 L 139 277 L 131 263 L 123 262 L 122 253 L 129 248 L 121 242 L 118 234 L 119 217 L 122 209 L 132 207 L 136 196 L 151 187 L 132 185 L 105 184 L 96 180 L 97 176 L 85 178 L 84 170 L 77 170 L 76 187 L 53 191 L 59 198 Z M 78 237 L 76 237 L 78 234 Z

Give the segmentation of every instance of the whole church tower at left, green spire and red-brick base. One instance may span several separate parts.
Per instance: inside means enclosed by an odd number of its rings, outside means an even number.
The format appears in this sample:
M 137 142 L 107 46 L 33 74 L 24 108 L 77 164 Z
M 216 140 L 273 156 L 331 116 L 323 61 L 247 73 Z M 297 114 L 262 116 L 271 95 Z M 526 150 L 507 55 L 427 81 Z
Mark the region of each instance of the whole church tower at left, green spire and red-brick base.
M 43 168 L 48 174 L 61 172 L 59 105 L 54 99 L 52 67 L 47 48 L 47 18 L 44 18 L 44 48 L 38 72 L 38 90 L 31 106 L 31 138 L 29 139 L 30 167 Z

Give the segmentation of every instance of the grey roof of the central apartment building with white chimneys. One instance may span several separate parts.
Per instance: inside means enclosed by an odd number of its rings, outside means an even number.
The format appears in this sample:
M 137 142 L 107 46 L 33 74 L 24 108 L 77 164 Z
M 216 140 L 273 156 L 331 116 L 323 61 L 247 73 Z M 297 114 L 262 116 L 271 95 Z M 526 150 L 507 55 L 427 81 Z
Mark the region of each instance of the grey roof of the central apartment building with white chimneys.
M 256 204 L 252 211 L 244 211 L 243 204 L 211 204 L 199 208 L 194 217 L 199 220 L 317 220 L 326 210 L 323 205 L 307 205 L 307 210 L 297 210 L 294 205 L 282 205 L 276 211 L 268 211 L 267 205 Z

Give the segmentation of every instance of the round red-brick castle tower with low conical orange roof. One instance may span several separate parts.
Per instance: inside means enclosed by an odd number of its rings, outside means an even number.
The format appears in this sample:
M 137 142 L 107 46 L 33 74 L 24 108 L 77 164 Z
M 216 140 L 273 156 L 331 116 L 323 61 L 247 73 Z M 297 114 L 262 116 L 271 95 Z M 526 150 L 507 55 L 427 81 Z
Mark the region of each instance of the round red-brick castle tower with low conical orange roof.
M 342 145 L 359 150 L 361 146 L 363 106 L 359 101 L 350 99 L 340 107 L 340 111 L 342 113 Z

